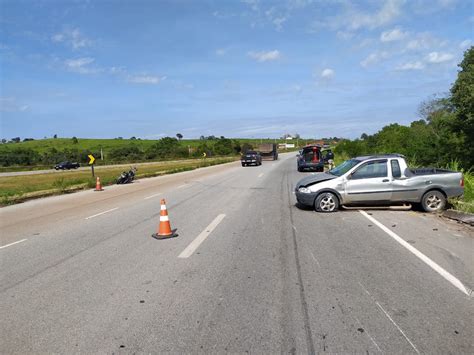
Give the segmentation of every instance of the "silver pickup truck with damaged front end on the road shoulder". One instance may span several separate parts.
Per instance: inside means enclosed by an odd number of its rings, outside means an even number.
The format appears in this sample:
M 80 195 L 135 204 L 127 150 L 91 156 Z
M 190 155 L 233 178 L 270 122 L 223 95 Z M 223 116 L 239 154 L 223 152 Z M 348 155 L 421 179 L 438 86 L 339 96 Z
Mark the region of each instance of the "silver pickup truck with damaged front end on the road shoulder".
M 459 172 L 409 169 L 399 154 L 356 157 L 326 173 L 301 179 L 295 188 L 300 204 L 319 212 L 334 212 L 340 205 L 420 203 L 427 212 L 446 206 L 448 197 L 464 193 Z

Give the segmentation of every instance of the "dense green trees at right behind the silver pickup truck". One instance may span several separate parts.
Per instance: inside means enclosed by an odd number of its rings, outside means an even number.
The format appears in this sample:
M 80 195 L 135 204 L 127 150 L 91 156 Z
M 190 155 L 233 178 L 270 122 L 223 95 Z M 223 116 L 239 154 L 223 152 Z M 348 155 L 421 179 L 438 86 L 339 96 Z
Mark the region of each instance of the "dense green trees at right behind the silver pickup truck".
M 335 153 L 345 157 L 401 153 L 415 165 L 474 167 L 474 47 L 464 53 L 449 94 L 420 104 L 419 120 L 390 124 L 375 134 L 343 140 Z

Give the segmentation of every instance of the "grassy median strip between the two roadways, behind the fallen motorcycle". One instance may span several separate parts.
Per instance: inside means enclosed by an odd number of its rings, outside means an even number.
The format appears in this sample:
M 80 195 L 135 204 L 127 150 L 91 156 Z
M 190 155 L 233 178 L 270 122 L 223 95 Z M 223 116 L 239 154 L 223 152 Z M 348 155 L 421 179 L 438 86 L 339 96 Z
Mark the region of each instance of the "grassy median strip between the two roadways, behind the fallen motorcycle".
M 138 168 L 136 178 L 146 178 L 194 170 L 206 166 L 225 164 L 239 157 L 189 159 L 146 164 L 134 164 Z M 96 169 L 102 185 L 113 185 L 117 177 L 128 170 L 121 167 Z M 10 205 L 28 199 L 59 195 L 95 187 L 95 178 L 87 171 L 60 171 L 53 174 L 19 175 L 0 177 L 0 205 Z

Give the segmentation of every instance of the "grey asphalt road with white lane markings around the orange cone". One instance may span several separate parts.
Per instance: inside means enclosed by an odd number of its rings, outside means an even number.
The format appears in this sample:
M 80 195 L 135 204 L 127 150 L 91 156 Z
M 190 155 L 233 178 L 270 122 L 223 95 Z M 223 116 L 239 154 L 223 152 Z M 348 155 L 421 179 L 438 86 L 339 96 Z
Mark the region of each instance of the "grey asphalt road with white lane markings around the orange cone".
M 472 354 L 472 229 L 300 209 L 304 175 L 284 154 L 2 208 L 0 351 Z

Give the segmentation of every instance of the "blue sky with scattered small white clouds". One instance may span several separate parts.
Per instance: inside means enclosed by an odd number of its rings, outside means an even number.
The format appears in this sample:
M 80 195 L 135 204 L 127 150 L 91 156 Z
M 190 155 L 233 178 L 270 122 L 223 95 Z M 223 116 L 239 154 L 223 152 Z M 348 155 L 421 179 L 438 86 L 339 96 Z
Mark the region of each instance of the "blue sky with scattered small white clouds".
M 0 137 L 343 136 L 418 119 L 470 0 L 0 0 Z

